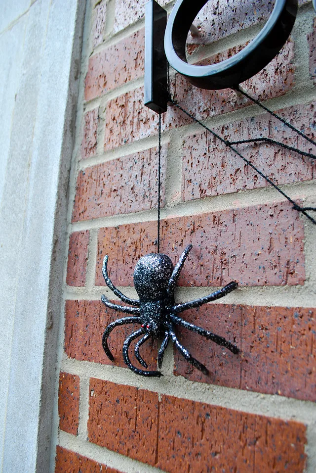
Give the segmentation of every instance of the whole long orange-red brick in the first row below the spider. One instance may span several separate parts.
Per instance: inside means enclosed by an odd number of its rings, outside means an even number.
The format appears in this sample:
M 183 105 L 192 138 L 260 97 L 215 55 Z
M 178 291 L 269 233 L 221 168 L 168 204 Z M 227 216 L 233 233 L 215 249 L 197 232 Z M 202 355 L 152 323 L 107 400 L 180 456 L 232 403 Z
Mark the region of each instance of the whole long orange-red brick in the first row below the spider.
M 306 427 L 90 379 L 91 442 L 169 473 L 303 472 Z

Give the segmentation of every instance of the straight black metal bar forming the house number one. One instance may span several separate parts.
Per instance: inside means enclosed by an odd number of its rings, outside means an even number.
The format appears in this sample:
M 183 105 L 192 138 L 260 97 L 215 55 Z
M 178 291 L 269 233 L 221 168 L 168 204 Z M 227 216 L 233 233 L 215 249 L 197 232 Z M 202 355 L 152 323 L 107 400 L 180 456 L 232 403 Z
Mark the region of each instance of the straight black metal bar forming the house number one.
M 167 110 L 167 58 L 164 52 L 164 32 L 167 12 L 157 1 L 146 3 L 145 19 L 145 105 L 157 113 Z

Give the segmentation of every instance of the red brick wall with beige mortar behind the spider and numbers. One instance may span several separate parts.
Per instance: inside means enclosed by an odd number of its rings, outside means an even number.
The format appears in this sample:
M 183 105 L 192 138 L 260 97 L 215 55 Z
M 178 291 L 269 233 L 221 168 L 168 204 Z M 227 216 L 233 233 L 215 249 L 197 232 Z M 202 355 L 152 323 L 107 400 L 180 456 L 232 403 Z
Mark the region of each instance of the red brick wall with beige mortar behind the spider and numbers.
M 164 4 L 168 12 L 173 3 Z M 216 6 L 214 6 L 216 4 Z M 274 2 L 209 2 L 188 37 L 191 62 L 234 54 Z M 183 313 L 235 340 L 236 356 L 185 329 L 203 375 L 170 345 L 162 378 L 129 371 L 109 338 L 119 317 L 100 302 L 101 266 L 121 291 L 140 256 L 157 248 L 158 115 L 143 106 L 144 0 L 88 2 L 69 199 L 56 404 L 55 472 L 316 471 L 316 227 L 222 143 L 172 106 L 162 116 L 161 251 L 176 262 L 188 243 L 176 300 L 231 280 L 238 289 Z M 242 87 L 315 139 L 316 23 L 299 1 L 290 39 Z M 212 36 L 212 42 L 210 37 Z M 201 46 L 202 44 L 202 46 Z M 313 146 L 231 90 L 198 90 L 171 71 L 173 97 L 228 140 L 267 136 Z M 315 205 L 315 164 L 267 143 L 244 155 L 293 199 Z M 158 342 L 142 346 L 150 369 Z M 132 350 L 130 350 L 132 353 Z M 131 355 L 132 362 L 137 361 Z M 57 398 L 56 398 L 57 399 Z M 57 403 L 57 401 L 56 401 Z M 58 417 L 59 415 L 59 417 Z

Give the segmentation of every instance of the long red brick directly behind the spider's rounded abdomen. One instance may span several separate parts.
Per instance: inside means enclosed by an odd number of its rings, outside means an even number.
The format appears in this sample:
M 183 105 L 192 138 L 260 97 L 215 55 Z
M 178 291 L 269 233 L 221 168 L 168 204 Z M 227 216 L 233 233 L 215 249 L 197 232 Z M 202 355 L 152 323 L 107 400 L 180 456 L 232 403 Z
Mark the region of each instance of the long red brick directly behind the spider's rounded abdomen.
M 109 274 L 118 286 L 132 285 L 137 260 L 156 250 L 156 223 L 143 222 L 99 230 L 96 284 L 109 255 Z M 180 286 L 303 284 L 304 222 L 287 202 L 178 217 L 161 223 L 160 251 L 173 263 L 185 246 L 193 250 Z

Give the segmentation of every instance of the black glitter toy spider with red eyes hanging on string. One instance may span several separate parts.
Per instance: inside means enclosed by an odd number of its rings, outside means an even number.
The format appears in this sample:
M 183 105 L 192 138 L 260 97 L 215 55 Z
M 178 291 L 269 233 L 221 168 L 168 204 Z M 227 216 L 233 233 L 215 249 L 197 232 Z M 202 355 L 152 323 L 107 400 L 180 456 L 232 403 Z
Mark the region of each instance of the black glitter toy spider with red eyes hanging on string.
M 139 370 L 130 362 L 128 348 L 132 340 L 135 340 L 135 338 L 138 338 L 141 335 L 144 336 L 137 342 L 135 346 L 135 356 L 144 368 L 147 368 L 147 364 L 139 353 L 139 347 L 150 337 L 163 338 L 158 351 L 158 367 L 161 368 L 163 354 L 168 345 L 169 339 L 171 338 L 177 349 L 187 361 L 192 363 L 198 370 L 204 373 L 204 375 L 208 374 L 207 368 L 202 365 L 202 363 L 193 358 L 189 351 L 181 345 L 175 335 L 173 328 L 174 324 L 181 325 L 186 329 L 199 333 L 205 338 L 214 341 L 218 345 L 225 346 L 233 353 L 239 352 L 237 346 L 227 341 L 224 337 L 215 335 L 214 333 L 211 333 L 193 324 L 189 324 L 177 316 L 179 312 L 183 312 L 184 310 L 192 309 L 193 307 L 199 307 L 206 302 L 220 299 L 237 287 L 237 283 L 232 281 L 222 289 L 219 289 L 205 297 L 201 297 L 200 299 L 196 299 L 191 302 L 186 302 L 185 304 L 174 305 L 175 286 L 183 268 L 184 262 L 187 259 L 191 249 L 191 244 L 186 247 L 175 268 L 173 268 L 170 258 L 161 253 L 151 253 L 140 258 L 134 270 L 134 285 L 139 295 L 139 300 L 126 297 L 114 286 L 107 272 L 108 255 L 105 256 L 103 260 L 102 274 L 107 286 L 114 292 L 115 295 L 120 298 L 120 300 L 136 306 L 119 306 L 109 302 L 105 295 L 101 296 L 103 304 L 105 304 L 107 307 L 115 309 L 119 312 L 133 314 L 134 316 L 118 319 L 115 322 L 109 324 L 105 329 L 102 337 L 102 346 L 107 357 L 111 361 L 114 360 L 114 357 L 108 346 L 108 336 L 115 327 L 131 323 L 140 324 L 141 328 L 129 335 L 124 341 L 123 359 L 128 368 L 130 368 L 137 375 L 162 376 L 159 371 Z

